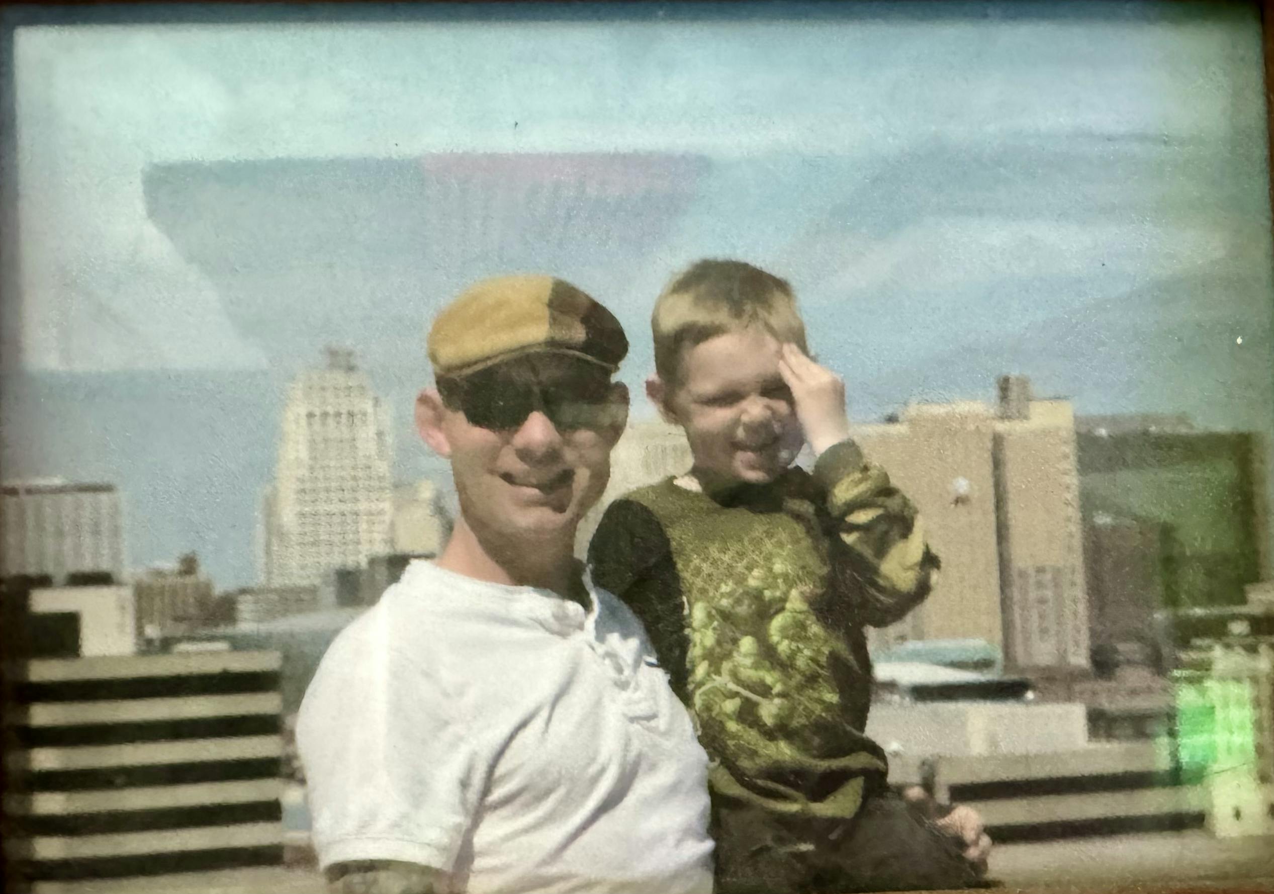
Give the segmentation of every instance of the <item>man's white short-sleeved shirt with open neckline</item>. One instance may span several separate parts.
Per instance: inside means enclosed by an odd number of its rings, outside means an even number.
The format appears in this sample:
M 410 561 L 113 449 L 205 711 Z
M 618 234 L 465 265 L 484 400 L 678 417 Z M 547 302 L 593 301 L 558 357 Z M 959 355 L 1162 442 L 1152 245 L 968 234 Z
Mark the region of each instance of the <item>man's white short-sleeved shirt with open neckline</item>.
M 297 741 L 320 863 L 457 890 L 705 893 L 707 755 L 637 618 L 413 562 L 345 628 Z

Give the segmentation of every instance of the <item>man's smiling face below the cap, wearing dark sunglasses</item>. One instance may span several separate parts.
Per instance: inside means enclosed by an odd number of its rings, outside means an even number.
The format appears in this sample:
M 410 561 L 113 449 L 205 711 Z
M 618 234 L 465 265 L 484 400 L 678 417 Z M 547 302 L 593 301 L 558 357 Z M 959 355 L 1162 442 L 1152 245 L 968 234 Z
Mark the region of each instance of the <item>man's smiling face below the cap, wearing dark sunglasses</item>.
M 610 476 L 627 390 L 605 369 L 557 354 L 447 385 L 438 428 L 469 526 L 519 545 L 573 540 Z

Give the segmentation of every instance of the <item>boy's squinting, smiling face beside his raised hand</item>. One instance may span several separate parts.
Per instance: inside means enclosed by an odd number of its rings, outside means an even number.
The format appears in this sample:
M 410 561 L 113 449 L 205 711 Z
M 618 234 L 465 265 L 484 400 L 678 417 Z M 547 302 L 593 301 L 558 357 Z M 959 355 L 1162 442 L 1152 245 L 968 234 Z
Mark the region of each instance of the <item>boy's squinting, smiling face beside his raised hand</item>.
M 652 387 L 665 415 L 685 429 L 705 484 L 766 484 L 796 457 L 804 436 L 778 358 L 778 340 L 750 326 L 685 349 L 680 381 Z

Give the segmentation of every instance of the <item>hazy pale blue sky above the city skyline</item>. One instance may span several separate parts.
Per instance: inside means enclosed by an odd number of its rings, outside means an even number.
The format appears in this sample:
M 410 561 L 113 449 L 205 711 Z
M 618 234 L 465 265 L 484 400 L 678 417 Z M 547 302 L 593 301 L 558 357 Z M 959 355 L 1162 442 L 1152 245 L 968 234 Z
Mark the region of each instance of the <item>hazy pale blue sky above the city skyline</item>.
M 341 343 L 406 420 L 432 315 L 517 267 L 610 306 L 640 387 L 660 287 L 729 256 L 794 284 L 859 419 L 1020 372 L 1082 413 L 1271 429 L 1254 5 L 321 15 L 17 29 L 10 382 L 282 390 Z M 243 420 L 252 450 L 278 424 Z M 106 476 L 192 462 L 38 430 Z M 6 451 L 55 471 L 34 436 Z M 152 540 L 136 560 L 172 558 Z

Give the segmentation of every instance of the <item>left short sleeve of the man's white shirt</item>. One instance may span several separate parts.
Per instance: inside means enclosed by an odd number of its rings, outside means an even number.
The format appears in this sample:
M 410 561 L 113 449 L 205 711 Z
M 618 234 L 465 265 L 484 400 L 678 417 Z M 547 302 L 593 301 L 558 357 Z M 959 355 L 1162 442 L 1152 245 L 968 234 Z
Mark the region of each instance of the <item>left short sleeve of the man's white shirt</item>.
M 297 722 L 320 865 L 451 871 L 485 778 L 478 740 L 437 658 L 397 648 L 385 613 L 361 620 L 324 657 Z

